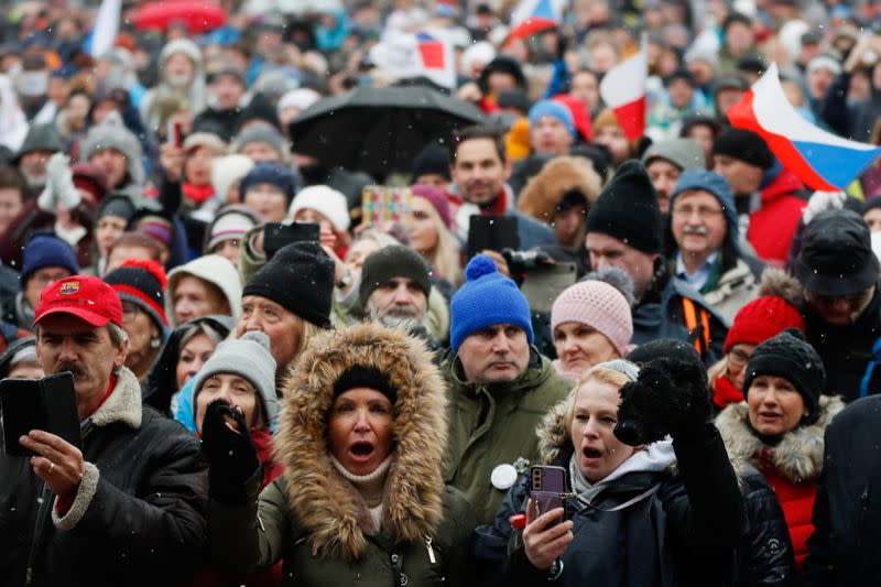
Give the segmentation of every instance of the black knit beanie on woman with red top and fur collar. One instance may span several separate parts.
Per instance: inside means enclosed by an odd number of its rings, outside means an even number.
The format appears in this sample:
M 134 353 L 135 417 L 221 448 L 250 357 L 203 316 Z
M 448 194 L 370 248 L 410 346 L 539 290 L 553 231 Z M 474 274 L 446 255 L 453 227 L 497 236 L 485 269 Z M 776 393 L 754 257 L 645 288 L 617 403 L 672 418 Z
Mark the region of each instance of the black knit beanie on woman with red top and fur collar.
M 806 423 L 816 422 L 819 416 L 819 396 L 826 384 L 826 369 L 823 367 L 823 359 L 801 330 L 786 328 L 755 347 L 743 378 L 744 398 L 752 380 L 759 376 L 782 377 L 795 385 L 808 412 Z

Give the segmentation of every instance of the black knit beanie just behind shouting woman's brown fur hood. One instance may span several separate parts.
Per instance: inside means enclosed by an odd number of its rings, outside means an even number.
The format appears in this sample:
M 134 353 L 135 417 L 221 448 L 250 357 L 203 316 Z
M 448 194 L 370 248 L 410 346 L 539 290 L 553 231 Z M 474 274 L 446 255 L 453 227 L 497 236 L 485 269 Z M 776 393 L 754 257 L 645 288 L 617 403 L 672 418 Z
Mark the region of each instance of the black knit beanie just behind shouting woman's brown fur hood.
M 293 242 L 251 276 L 242 296 L 272 300 L 301 318 L 330 327 L 334 261 L 317 242 Z

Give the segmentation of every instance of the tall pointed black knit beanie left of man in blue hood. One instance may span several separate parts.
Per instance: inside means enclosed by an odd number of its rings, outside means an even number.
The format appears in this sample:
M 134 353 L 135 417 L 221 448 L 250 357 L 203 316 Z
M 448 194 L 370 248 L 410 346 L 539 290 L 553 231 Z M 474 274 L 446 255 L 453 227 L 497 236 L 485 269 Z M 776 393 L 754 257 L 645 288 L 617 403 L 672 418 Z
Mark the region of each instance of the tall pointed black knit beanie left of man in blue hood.
M 618 167 L 587 215 L 587 231 L 608 235 L 645 253 L 661 252 L 661 208 L 642 163 L 631 160 Z

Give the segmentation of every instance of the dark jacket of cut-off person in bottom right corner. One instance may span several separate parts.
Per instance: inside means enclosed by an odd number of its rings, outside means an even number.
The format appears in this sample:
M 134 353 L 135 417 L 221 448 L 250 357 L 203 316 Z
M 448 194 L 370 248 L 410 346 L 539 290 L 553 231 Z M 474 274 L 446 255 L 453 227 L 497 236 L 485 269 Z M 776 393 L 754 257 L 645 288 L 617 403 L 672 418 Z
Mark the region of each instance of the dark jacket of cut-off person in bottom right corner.
M 824 459 L 803 584 L 881 585 L 881 395 L 835 416 Z

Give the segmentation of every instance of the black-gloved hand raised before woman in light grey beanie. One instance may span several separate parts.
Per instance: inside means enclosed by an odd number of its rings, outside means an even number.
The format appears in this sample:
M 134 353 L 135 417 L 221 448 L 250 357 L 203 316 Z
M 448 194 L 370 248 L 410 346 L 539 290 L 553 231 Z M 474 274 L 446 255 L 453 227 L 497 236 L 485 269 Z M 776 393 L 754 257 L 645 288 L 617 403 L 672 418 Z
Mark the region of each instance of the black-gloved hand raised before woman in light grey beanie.
M 222 503 L 243 503 L 244 482 L 260 468 L 244 415 L 224 400 L 208 404 L 202 423 L 202 452 L 208 460 L 211 498 Z

